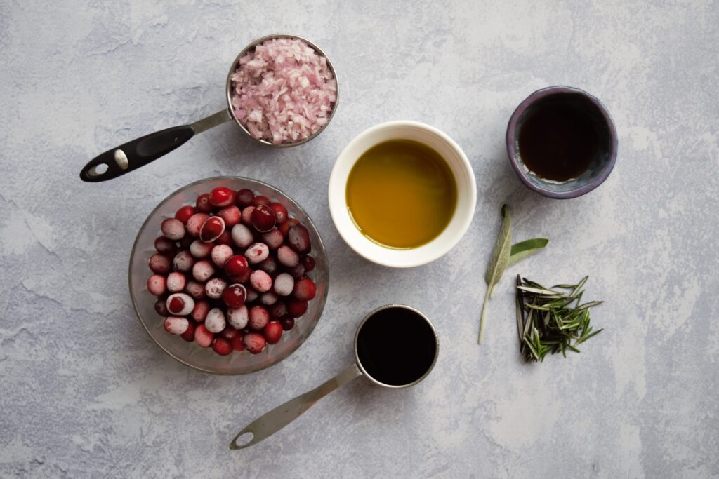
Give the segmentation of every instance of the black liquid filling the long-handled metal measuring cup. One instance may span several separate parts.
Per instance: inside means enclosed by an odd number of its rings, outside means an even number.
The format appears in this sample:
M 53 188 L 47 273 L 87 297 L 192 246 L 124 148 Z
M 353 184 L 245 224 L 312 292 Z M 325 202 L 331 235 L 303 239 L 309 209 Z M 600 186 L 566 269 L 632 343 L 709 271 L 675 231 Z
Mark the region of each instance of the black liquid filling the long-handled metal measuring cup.
M 429 323 L 403 307 L 376 312 L 357 335 L 357 357 L 362 368 L 390 386 L 403 386 L 421 378 L 431 368 L 436 349 Z

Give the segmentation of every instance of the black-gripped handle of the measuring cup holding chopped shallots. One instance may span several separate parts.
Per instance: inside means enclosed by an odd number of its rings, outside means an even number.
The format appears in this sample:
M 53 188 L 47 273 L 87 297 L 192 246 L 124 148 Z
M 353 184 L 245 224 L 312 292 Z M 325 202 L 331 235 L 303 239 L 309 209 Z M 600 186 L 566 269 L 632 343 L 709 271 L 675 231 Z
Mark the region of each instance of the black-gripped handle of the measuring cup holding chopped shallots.
M 91 159 L 80 172 L 80 177 L 86 182 L 112 180 L 155 161 L 155 159 L 184 144 L 196 134 L 231 119 L 232 113 L 228 108 L 225 108 L 193 124 L 173 126 L 172 128 L 141 136 Z M 101 164 L 105 164 L 107 167 L 103 172 L 100 172 L 99 169 Z

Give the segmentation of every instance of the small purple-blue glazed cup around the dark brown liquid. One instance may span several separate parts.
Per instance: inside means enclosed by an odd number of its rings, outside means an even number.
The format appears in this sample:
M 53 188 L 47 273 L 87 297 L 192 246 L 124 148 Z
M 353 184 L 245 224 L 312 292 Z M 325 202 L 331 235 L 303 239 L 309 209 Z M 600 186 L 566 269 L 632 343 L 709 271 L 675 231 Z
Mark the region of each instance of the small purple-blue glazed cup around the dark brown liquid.
M 524 120 L 538 106 L 554 102 L 569 103 L 586 113 L 592 119 L 600 137 L 599 152 L 587 171 L 578 178 L 564 182 L 538 177 L 523 164 L 519 154 L 518 139 Z M 569 86 L 550 86 L 536 90 L 519 103 L 509 118 L 506 141 L 509 161 L 524 185 L 541 195 L 560 200 L 582 196 L 601 185 L 609 176 L 617 159 L 617 131 L 607 108 L 586 91 Z

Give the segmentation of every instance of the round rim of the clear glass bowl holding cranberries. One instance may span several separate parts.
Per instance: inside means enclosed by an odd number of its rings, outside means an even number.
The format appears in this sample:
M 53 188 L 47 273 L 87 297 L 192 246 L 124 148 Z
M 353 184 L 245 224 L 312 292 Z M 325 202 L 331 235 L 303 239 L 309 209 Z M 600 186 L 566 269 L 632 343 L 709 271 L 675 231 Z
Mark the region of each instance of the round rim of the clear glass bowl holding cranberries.
M 324 294 L 322 295 L 321 298 L 315 298 L 315 299 L 319 299 L 319 310 L 317 311 L 317 320 L 314 321 L 312 325 L 309 325 L 309 329 L 307 330 L 307 334 L 306 334 L 305 338 L 302 341 L 298 342 L 296 345 L 294 345 L 292 348 L 290 348 L 286 355 L 284 355 L 282 358 L 278 357 L 278 358 L 274 359 L 273 361 L 270 361 L 270 363 L 267 363 L 265 366 L 255 369 L 255 371 L 246 371 L 246 372 L 213 371 L 212 369 L 195 366 L 194 364 L 189 363 L 188 361 L 184 360 L 183 358 L 179 358 L 177 355 L 171 353 L 170 351 L 165 349 L 165 347 L 163 345 L 161 345 L 160 343 L 157 342 L 155 337 L 152 335 L 152 332 L 150 332 L 150 329 L 145 324 L 145 321 L 142 320 L 142 315 L 140 315 L 140 312 L 139 312 L 139 309 L 137 306 L 137 299 L 135 299 L 134 292 L 132 291 L 132 262 L 134 260 L 135 251 L 137 251 L 137 244 L 139 242 L 139 237 L 142 234 L 142 232 L 145 231 L 145 227 L 147 227 L 147 223 L 150 222 L 150 218 L 152 218 L 155 215 L 155 213 L 157 213 L 157 211 L 160 210 L 160 208 L 163 205 L 165 205 L 165 203 L 168 203 L 168 201 L 171 198 L 173 198 L 175 195 L 178 195 L 178 193 L 180 193 L 181 190 L 185 190 L 188 187 L 201 185 L 205 182 L 210 182 L 210 181 L 214 181 L 214 180 L 249 181 L 249 182 L 254 182 L 254 183 L 260 184 L 264 187 L 268 187 L 272 190 L 280 192 L 283 195 L 283 197 L 286 197 L 288 200 L 290 200 L 290 203 L 292 203 L 299 211 L 301 211 L 303 213 L 303 215 L 305 215 L 305 217 L 307 218 L 307 223 L 309 225 L 311 225 L 313 230 L 317 233 L 317 238 L 319 239 L 319 245 L 317 245 L 317 246 L 319 246 L 321 251 L 324 252 L 324 256 L 327 257 L 327 261 L 326 261 L 326 276 L 328 279 L 327 287 L 324 289 Z M 315 248 L 315 247 L 316 246 L 313 245 L 313 248 Z M 324 242 L 322 241 L 322 237 L 319 234 L 319 230 L 317 229 L 316 225 L 312 221 L 312 218 L 310 217 L 310 215 L 308 215 L 308 213 L 304 210 L 304 208 L 302 208 L 295 200 L 293 200 L 293 198 L 288 196 L 285 192 L 280 190 L 278 187 L 275 187 L 273 185 L 270 185 L 269 183 L 263 182 L 262 180 L 255 180 L 254 178 L 241 177 L 241 176 L 237 176 L 237 175 L 208 177 L 208 178 L 203 178 L 202 180 L 197 180 L 197 181 L 188 183 L 187 185 L 179 187 L 177 190 L 174 190 L 169 195 L 167 195 L 162 201 L 160 201 L 160 203 L 157 203 L 157 206 L 155 206 L 155 208 L 152 208 L 152 211 L 147 215 L 147 218 L 145 218 L 145 221 L 143 221 L 142 225 L 139 227 L 139 230 L 137 231 L 137 236 L 135 236 L 135 239 L 132 242 L 132 250 L 130 251 L 130 259 L 129 259 L 129 264 L 128 264 L 128 268 L 127 268 L 127 286 L 128 286 L 129 293 L 130 293 L 130 299 L 132 300 L 132 308 L 135 312 L 135 316 L 137 317 L 137 320 L 142 325 L 142 327 L 145 329 L 145 332 L 147 332 L 147 335 L 150 336 L 150 339 L 152 339 L 152 342 L 154 342 L 155 345 L 157 345 L 157 347 L 160 348 L 164 353 L 169 355 L 170 358 L 173 358 L 176 361 L 183 363 L 185 366 L 189 366 L 190 368 L 196 369 L 197 371 L 202 371 L 203 373 L 211 373 L 211 374 L 216 374 L 218 376 L 244 376 L 245 374 L 257 373 L 258 371 L 262 371 L 263 369 L 270 368 L 271 366 L 275 366 L 275 364 L 280 363 L 281 361 L 285 360 L 286 358 L 289 358 L 290 355 L 292 355 L 296 350 L 298 350 L 298 348 L 300 348 L 300 346 L 303 345 L 305 343 L 305 341 L 310 337 L 310 335 L 314 331 L 315 327 L 317 326 L 317 323 L 319 323 L 319 320 L 321 320 L 322 313 L 324 312 L 324 307 L 326 306 L 327 297 L 329 295 L 329 256 L 327 256 L 327 254 L 326 254 L 326 249 L 324 247 Z

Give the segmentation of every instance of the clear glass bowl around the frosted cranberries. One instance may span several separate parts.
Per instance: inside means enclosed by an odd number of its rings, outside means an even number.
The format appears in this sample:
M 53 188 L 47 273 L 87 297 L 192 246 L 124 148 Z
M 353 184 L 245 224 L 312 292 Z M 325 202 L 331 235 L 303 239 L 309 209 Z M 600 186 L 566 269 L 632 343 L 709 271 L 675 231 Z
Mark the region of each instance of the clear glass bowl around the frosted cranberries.
M 260 195 L 265 195 L 273 201 L 279 201 L 287 208 L 290 216 L 297 218 L 306 226 L 312 242 L 311 255 L 316 266 L 308 276 L 317 285 L 317 294 L 308 304 L 307 312 L 297 318 L 295 327 L 283 332 L 282 338 L 276 344 L 268 344 L 260 354 L 252 355 L 247 351 L 233 351 L 231 354 L 221 356 L 212 348 L 201 348 L 194 341 L 187 342 L 177 335 L 171 335 L 162 326 L 164 318 L 155 312 L 157 298 L 147 291 L 147 278 L 152 271 L 147 261 L 155 254 L 155 238 L 161 236 L 160 223 L 165 218 L 172 218 L 180 206 L 195 204 L 198 195 L 209 193 L 213 188 L 224 186 L 232 190 L 249 188 Z M 129 264 L 129 289 L 132 305 L 139 321 L 145 327 L 150 338 L 155 340 L 160 348 L 170 356 L 200 371 L 216 374 L 248 374 L 269 368 L 292 354 L 311 335 L 317 325 L 324 304 L 327 299 L 329 283 L 329 264 L 324 245 L 317 232 L 317 228 L 300 205 L 277 188 L 258 180 L 243 177 L 214 177 L 190 183 L 162 200 L 137 233 Z

